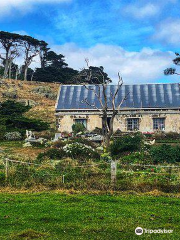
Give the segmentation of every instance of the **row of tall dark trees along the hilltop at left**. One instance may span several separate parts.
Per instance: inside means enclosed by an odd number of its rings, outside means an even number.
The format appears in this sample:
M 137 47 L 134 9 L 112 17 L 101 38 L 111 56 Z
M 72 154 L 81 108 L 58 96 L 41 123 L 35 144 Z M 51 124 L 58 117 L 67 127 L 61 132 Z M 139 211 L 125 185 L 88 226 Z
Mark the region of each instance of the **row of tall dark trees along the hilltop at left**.
M 0 31 L 0 47 L 0 77 L 4 79 L 63 84 L 100 84 L 104 79 L 111 81 L 102 66 L 77 71 L 68 66 L 63 54 L 52 51 L 44 40 L 31 36 Z M 20 56 L 24 62 L 18 65 L 16 59 Z M 32 69 L 35 59 L 39 59 L 40 67 Z M 89 74 L 92 77 L 87 79 Z

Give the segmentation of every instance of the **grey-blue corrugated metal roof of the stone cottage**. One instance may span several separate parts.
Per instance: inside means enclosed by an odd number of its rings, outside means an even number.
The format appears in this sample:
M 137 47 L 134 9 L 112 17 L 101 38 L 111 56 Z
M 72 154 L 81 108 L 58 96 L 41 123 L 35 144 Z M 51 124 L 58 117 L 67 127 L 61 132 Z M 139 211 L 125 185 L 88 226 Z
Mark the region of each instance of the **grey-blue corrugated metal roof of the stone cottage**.
M 98 87 L 94 85 L 87 85 L 87 87 L 94 88 L 96 92 L 98 90 Z M 114 93 L 116 88 L 117 85 L 107 86 L 106 95 L 109 99 L 109 108 L 111 108 L 110 93 Z M 179 83 L 123 85 L 116 96 L 116 106 L 128 93 L 128 98 L 121 108 L 180 108 Z M 95 104 L 98 108 L 101 108 L 94 92 L 86 89 L 83 85 L 61 85 L 56 110 L 93 109 L 93 107 L 83 102 L 84 99 L 87 99 L 90 104 Z

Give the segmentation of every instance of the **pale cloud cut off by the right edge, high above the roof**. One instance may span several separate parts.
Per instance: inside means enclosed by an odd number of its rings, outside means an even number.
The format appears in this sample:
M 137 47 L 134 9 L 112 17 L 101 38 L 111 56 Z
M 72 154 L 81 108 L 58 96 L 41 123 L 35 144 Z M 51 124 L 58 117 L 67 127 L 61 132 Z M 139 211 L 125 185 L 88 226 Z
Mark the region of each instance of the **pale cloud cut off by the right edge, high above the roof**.
M 161 22 L 156 28 L 153 39 L 165 44 L 180 45 L 180 19 L 168 19 Z

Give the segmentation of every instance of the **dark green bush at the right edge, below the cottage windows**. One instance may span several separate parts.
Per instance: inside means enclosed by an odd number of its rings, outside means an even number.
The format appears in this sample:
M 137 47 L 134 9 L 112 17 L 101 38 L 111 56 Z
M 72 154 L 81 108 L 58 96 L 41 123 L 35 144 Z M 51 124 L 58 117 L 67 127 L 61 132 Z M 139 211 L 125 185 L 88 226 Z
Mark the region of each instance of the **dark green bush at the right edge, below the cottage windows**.
M 154 146 L 150 149 L 150 155 L 155 164 L 180 162 L 180 147 L 167 144 Z

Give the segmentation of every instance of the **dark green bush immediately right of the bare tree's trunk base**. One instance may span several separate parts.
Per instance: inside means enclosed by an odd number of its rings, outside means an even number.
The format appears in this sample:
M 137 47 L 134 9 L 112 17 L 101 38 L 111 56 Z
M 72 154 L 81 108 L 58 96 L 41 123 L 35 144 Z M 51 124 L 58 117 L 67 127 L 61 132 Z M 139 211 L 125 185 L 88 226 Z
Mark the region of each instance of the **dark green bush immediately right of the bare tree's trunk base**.
M 140 133 L 126 135 L 115 139 L 110 145 L 110 152 L 113 157 L 118 157 L 124 152 L 139 151 L 143 145 L 143 136 Z

